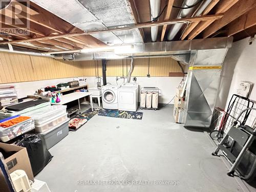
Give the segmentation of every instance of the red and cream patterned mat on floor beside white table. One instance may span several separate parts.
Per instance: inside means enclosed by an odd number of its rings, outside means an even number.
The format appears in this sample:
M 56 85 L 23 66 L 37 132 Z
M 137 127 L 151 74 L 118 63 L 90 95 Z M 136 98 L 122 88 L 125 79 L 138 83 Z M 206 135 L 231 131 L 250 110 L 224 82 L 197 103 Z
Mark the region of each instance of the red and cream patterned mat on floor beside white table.
M 101 109 L 88 109 L 69 120 L 69 131 L 77 131 L 82 125 L 89 121 L 94 115 L 98 114 Z

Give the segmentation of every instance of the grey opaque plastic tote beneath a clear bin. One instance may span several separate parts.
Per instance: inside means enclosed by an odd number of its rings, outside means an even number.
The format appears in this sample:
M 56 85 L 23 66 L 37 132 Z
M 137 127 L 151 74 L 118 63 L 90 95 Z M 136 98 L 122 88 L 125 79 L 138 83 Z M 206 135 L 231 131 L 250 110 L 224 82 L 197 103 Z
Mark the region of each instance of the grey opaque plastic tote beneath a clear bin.
M 57 144 L 67 135 L 69 135 L 69 119 L 54 127 L 54 129 L 48 132 L 40 134 L 46 141 L 46 148 L 49 150 L 52 146 Z

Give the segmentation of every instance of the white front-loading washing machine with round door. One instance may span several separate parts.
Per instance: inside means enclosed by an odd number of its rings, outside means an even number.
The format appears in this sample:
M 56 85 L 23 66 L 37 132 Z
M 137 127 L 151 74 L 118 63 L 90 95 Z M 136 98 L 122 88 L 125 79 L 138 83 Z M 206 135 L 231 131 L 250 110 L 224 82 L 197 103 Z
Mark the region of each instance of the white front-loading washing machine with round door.
M 114 86 L 107 84 L 101 87 L 102 92 L 102 106 L 103 109 L 117 110 L 118 109 L 118 95 L 117 90 L 121 86 Z

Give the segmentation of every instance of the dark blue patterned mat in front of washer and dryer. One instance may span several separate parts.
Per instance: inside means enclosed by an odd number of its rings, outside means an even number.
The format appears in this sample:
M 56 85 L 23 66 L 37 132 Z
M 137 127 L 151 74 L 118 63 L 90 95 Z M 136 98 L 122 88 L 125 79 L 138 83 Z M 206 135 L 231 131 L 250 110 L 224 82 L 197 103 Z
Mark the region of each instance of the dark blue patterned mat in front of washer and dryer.
M 132 112 L 132 111 L 119 111 L 119 110 L 100 110 L 98 112 L 99 116 L 105 117 L 116 117 L 123 119 L 142 119 L 142 112 Z

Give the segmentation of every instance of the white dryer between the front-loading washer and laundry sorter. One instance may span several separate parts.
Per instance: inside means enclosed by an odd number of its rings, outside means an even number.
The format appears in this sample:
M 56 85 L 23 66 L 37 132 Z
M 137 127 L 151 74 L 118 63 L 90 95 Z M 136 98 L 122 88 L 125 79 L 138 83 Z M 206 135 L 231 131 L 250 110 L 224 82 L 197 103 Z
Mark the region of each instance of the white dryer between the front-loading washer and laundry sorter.
M 138 83 L 123 83 L 118 92 L 118 110 L 137 111 L 139 104 Z

